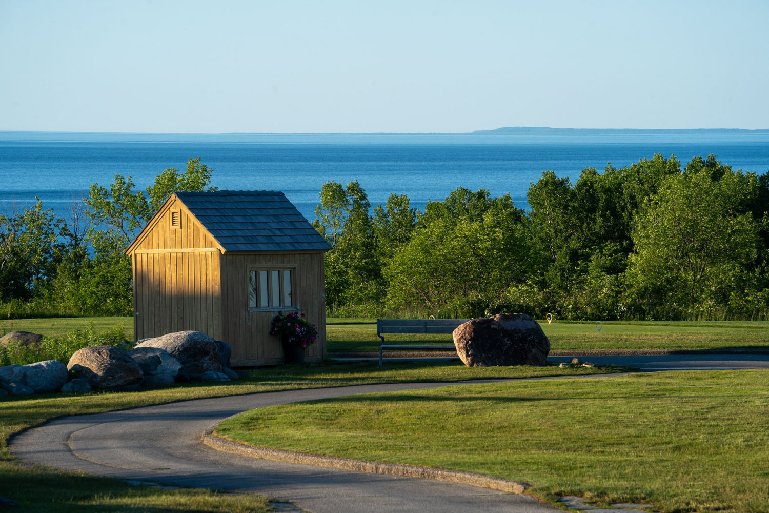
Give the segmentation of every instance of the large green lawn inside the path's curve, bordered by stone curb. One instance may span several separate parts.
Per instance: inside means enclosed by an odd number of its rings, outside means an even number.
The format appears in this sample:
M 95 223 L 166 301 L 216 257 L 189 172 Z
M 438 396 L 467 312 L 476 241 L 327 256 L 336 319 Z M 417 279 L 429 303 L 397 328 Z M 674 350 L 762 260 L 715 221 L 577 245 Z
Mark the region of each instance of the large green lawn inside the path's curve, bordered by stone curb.
M 216 433 L 524 481 L 549 501 L 769 511 L 767 377 L 680 371 L 355 395 L 250 411 Z

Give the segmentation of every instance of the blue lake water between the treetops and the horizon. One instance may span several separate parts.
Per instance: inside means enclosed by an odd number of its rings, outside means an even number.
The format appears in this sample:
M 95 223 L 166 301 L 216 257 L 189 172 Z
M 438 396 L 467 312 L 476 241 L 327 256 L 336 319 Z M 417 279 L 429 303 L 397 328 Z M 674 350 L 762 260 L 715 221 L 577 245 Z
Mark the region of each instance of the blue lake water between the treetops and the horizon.
M 733 168 L 769 171 L 769 135 L 132 135 L 0 132 L 0 213 L 35 196 L 63 213 L 98 182 L 131 175 L 138 188 L 165 168 L 201 157 L 222 189 L 285 192 L 309 220 L 328 180 L 358 180 L 372 205 L 406 194 L 423 209 L 454 188 L 510 193 L 528 208 L 526 192 L 545 170 L 576 180 L 583 168 L 623 167 L 655 153 L 714 153 Z

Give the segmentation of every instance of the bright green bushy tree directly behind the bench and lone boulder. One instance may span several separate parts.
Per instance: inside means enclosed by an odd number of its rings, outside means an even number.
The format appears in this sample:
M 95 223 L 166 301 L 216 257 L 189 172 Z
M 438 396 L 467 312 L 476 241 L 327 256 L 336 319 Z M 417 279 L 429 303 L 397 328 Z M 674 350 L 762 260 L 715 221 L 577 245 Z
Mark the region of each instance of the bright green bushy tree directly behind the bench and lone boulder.
M 506 309 L 508 288 L 529 264 L 522 219 L 509 195 L 490 198 L 484 189 L 431 202 L 384 269 L 388 305 L 436 316 Z

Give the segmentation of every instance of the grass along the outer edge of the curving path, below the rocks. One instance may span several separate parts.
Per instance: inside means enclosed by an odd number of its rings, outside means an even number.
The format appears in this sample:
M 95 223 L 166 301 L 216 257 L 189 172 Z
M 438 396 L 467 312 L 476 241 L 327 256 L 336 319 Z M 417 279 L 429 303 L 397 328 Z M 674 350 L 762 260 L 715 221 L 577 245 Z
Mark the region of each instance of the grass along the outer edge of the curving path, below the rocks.
M 458 363 L 279 366 L 251 372 L 243 381 L 189 384 L 141 392 L 77 396 L 32 395 L 0 399 L 0 495 L 22 504 L 22 511 L 268 511 L 264 498 L 221 495 L 208 490 L 162 490 L 122 481 L 53 473 L 18 465 L 8 452 L 8 438 L 25 428 L 63 415 L 99 413 L 194 398 L 261 391 L 321 388 L 399 381 L 451 381 L 473 378 L 524 378 L 591 374 L 621 368 L 508 367 L 467 368 Z

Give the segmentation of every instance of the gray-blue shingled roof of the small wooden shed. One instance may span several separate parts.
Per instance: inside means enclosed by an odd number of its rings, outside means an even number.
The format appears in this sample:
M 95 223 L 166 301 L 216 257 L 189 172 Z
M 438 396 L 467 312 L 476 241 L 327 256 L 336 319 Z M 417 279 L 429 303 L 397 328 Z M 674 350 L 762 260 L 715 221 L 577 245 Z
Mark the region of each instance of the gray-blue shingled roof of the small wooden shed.
M 227 252 L 331 249 L 280 191 L 177 192 L 176 195 Z

